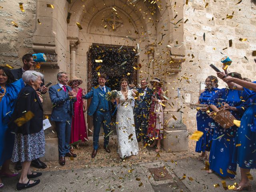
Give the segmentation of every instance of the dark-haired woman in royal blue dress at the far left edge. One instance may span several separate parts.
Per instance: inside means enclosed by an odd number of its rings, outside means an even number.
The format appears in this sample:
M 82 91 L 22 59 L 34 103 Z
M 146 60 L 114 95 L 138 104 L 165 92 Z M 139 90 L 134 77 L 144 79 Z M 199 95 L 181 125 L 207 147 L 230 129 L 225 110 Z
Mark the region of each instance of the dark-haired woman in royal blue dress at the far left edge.
M 24 87 L 22 79 L 14 82 L 10 69 L 0 67 L 0 176 L 14 177 L 18 175 L 9 169 L 14 146 L 14 134 L 8 129 L 8 122 L 12 115 L 16 98 Z M 4 184 L 0 178 L 0 188 Z

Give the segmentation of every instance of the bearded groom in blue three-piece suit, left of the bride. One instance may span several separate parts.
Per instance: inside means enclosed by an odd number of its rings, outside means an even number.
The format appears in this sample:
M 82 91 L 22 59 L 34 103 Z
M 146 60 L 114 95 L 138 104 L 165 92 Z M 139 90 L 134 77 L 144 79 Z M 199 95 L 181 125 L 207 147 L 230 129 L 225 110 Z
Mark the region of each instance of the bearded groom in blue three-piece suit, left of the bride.
M 85 90 L 83 90 L 83 98 L 89 99 L 92 98 L 88 109 L 88 115 L 93 116 L 93 152 L 92 158 L 94 158 L 97 154 L 99 147 L 99 134 L 100 134 L 100 126 L 103 124 L 104 129 L 104 149 L 106 152 L 110 153 L 110 149 L 108 148 L 109 141 L 109 132 L 110 132 L 110 122 L 111 122 L 111 103 L 106 100 L 106 93 L 110 92 L 110 88 L 105 86 L 107 81 L 106 74 L 101 74 L 98 78 L 99 86 L 97 88 L 92 88 L 90 92 L 86 94 Z M 107 136 L 107 137 L 106 137 Z

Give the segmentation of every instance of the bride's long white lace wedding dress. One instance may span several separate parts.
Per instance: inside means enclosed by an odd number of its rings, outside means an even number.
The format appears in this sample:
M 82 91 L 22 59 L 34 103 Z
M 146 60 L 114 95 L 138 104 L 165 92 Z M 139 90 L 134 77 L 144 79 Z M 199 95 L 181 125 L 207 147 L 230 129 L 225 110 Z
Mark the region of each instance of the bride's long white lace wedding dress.
M 118 154 L 121 158 L 137 155 L 139 146 L 135 134 L 132 90 L 128 90 L 128 99 L 125 100 L 119 91 L 120 102 L 116 114 L 116 133 L 118 140 Z

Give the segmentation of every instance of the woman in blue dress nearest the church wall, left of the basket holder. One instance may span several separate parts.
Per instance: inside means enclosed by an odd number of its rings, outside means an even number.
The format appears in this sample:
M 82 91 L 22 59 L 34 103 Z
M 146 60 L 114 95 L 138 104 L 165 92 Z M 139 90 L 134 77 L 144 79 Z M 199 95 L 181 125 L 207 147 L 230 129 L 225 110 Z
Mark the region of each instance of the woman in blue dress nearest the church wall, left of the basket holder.
M 215 76 L 208 76 L 205 80 L 206 87 L 201 91 L 198 102 L 196 104 L 205 104 L 208 106 L 212 96 L 219 90 L 218 79 Z M 212 129 L 211 124 L 213 122 L 206 114 L 207 107 L 200 108 L 196 114 L 197 130 L 202 131 L 203 136 L 196 142 L 196 152 L 202 154 L 198 157 L 199 161 L 207 160 L 208 154 L 206 151 L 210 151 L 212 142 Z

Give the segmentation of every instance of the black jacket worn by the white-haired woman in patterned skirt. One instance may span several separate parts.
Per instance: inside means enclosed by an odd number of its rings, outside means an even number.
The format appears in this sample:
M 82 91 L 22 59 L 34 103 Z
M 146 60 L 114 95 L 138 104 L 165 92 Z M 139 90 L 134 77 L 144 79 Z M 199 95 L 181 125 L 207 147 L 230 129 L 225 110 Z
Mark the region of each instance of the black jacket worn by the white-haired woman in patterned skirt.
M 34 117 L 24 123 L 22 126 L 17 126 L 14 122 L 16 119 L 25 115 L 26 112 L 31 111 Z M 43 107 L 36 91 L 30 85 L 26 85 L 20 93 L 15 104 L 14 112 L 8 124 L 11 132 L 22 133 L 28 135 L 38 133 L 43 128 Z

